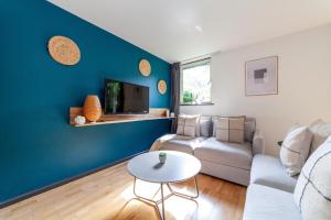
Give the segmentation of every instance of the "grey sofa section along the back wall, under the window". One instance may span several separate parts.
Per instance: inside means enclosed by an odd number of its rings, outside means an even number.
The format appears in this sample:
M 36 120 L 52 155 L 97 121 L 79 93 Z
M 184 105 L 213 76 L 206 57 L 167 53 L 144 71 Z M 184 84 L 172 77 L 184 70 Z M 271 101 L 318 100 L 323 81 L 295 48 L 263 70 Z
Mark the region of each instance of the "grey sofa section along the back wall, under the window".
M 152 150 L 170 150 L 193 154 L 202 164 L 201 173 L 237 183 L 249 184 L 253 156 L 264 153 L 264 139 L 254 118 L 246 118 L 245 143 L 220 142 L 213 132 L 213 117 L 201 117 L 200 136 L 167 135 Z M 163 140 L 162 140 L 163 139 Z

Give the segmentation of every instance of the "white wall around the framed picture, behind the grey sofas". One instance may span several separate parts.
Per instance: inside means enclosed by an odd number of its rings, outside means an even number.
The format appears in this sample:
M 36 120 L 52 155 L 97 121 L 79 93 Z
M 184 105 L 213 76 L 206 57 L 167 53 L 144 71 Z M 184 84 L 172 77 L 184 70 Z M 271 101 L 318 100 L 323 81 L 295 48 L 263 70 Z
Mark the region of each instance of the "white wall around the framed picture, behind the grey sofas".
M 278 55 L 278 88 L 274 96 L 245 97 L 246 61 Z M 256 117 L 266 153 L 295 123 L 321 118 L 331 122 L 331 24 L 212 56 L 214 106 L 181 107 L 183 113 Z

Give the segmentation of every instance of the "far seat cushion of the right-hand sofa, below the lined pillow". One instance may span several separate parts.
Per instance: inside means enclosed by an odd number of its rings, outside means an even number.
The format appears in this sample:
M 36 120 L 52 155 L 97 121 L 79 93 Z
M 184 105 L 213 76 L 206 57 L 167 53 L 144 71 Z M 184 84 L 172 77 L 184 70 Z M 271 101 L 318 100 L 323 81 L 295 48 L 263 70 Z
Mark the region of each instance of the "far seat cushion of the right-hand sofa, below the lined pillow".
M 291 177 L 286 173 L 279 158 L 257 154 L 253 158 L 250 184 L 269 186 L 293 193 L 298 176 Z

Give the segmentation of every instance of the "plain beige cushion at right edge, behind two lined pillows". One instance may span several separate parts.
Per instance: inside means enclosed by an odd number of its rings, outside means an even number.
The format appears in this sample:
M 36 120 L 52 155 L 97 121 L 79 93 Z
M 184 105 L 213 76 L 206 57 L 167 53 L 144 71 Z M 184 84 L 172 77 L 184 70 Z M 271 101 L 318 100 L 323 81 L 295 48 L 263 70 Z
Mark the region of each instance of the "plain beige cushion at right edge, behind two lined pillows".
M 309 131 L 313 134 L 309 152 L 312 154 L 331 135 L 331 124 L 319 119 L 310 124 Z

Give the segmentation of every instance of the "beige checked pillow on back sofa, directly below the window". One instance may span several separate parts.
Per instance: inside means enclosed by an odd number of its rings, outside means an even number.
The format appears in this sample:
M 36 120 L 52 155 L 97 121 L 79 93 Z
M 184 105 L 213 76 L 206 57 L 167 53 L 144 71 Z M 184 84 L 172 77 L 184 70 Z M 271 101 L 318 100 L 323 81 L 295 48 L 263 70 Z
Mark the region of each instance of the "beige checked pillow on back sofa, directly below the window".
M 197 118 L 199 117 L 179 116 L 177 134 L 194 138 L 196 132 Z

